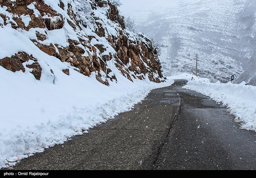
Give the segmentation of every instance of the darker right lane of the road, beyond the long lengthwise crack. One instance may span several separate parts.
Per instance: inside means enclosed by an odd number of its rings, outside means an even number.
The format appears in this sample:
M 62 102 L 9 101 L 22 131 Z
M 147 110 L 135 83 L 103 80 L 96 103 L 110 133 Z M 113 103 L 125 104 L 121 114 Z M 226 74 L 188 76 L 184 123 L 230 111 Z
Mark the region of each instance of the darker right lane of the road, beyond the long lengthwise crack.
M 156 169 L 255 170 L 256 132 L 239 128 L 226 107 L 195 91 L 172 88 L 181 96 Z

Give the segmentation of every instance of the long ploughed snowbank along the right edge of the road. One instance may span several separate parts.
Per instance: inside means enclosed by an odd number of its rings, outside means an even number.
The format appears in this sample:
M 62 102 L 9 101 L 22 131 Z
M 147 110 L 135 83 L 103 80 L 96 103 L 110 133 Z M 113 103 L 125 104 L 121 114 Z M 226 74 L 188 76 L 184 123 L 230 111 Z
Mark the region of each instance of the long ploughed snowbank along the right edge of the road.
M 191 78 L 195 80 L 191 80 Z M 256 131 L 256 87 L 246 85 L 243 81 L 240 84 L 211 83 L 209 79 L 198 78 L 191 74 L 180 74 L 169 77 L 170 79 L 186 79 L 188 84 L 185 89 L 195 90 L 211 97 L 216 102 L 227 106 L 228 111 L 236 116 L 241 122 L 241 128 Z

